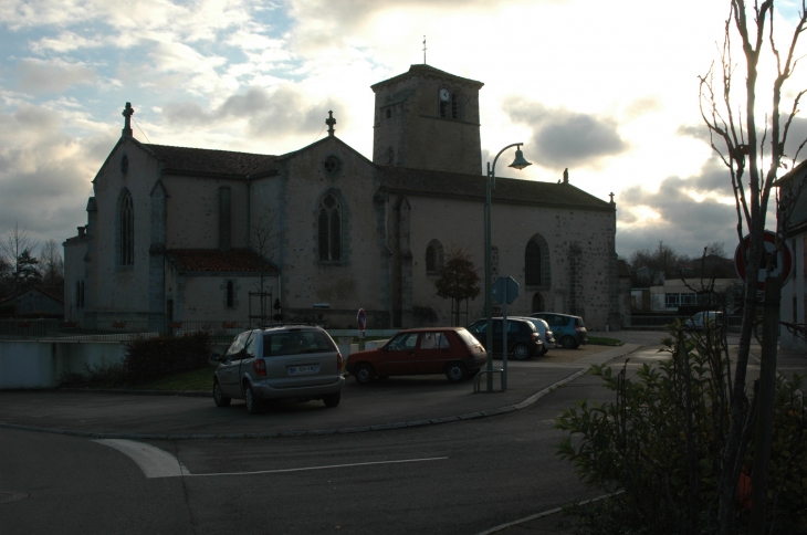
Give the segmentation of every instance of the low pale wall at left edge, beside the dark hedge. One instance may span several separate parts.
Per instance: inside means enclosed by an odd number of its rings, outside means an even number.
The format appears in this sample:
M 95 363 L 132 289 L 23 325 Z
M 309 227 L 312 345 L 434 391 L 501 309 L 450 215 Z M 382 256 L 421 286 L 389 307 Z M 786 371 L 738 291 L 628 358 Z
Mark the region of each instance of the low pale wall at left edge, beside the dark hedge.
M 55 388 L 67 373 L 123 360 L 119 342 L 0 342 L 0 390 Z

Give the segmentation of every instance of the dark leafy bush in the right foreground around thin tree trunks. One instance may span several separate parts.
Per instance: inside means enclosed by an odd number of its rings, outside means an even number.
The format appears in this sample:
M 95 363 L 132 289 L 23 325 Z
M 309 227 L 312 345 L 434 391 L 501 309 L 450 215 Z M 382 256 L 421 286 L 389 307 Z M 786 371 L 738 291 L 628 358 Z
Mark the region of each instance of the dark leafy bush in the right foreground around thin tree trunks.
M 625 517 L 627 508 L 648 533 L 714 533 L 729 430 L 727 358 L 711 333 L 688 336 L 679 324 L 674 334 L 675 340 L 663 340 L 670 360 L 643 365 L 636 379 L 627 377 L 626 368 L 617 374 L 606 366 L 593 368 L 616 392 L 616 401 L 580 401 L 564 411 L 555 428 L 572 437 L 558 445 L 558 454 L 587 485 L 625 491 L 610 508 L 598 507 L 598 515 Z M 777 385 L 767 504 L 768 524 L 776 514 L 776 533 L 807 529 L 807 411 L 797 394 L 801 379 Z M 748 468 L 753 437 L 748 433 L 744 444 Z M 747 521 L 740 500 L 735 514 L 737 525 Z

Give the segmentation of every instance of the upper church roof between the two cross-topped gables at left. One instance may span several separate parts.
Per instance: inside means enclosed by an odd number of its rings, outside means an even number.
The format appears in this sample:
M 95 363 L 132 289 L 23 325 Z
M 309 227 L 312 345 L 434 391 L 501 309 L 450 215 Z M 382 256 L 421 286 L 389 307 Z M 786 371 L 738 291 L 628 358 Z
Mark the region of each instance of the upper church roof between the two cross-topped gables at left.
M 163 172 L 169 175 L 247 178 L 259 168 L 265 170 L 276 158 L 276 156 L 232 150 L 171 147 L 145 143 L 142 145 L 163 164 Z

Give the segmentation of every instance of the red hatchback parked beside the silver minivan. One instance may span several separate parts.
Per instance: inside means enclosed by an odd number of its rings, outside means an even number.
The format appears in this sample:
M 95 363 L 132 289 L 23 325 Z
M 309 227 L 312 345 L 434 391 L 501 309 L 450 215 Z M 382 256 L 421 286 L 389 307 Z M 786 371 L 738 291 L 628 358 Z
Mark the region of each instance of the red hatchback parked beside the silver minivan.
M 394 375 L 446 374 L 451 382 L 475 375 L 488 361 L 484 347 L 462 327 L 401 331 L 378 349 L 347 357 L 347 371 L 368 385 Z

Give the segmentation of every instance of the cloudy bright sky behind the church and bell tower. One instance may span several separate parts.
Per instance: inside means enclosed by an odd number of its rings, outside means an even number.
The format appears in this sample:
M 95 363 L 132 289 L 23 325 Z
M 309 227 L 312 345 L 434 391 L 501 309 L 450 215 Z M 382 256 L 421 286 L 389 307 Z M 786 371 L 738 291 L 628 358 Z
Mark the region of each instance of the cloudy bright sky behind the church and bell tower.
M 785 31 L 796 6 L 777 3 Z M 698 108 L 727 14 L 727 0 L 0 0 L 0 230 L 75 235 L 127 101 L 139 140 L 264 154 L 326 135 L 333 109 L 371 157 L 369 86 L 422 63 L 426 34 L 430 65 L 485 84 L 483 158 L 524 143 L 534 165 L 499 175 L 568 168 L 612 191 L 621 256 L 659 240 L 733 251 L 729 176 Z

